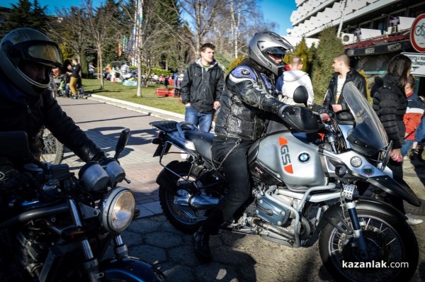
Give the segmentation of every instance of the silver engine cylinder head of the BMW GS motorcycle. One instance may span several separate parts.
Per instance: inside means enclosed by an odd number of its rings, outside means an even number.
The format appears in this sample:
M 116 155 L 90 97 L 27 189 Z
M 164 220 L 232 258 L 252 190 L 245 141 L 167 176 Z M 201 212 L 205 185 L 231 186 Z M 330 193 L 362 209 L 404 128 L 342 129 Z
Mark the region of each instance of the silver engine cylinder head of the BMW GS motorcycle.
M 283 201 L 288 205 L 291 204 L 291 199 L 288 197 L 283 198 L 284 196 L 280 195 L 277 195 L 276 197 L 273 198 L 276 198 L 278 201 Z M 261 198 L 256 201 L 255 212 L 259 218 L 278 226 L 284 225 L 290 216 L 290 210 L 288 210 L 288 208 L 285 208 L 283 205 L 279 205 L 265 196 L 261 196 Z

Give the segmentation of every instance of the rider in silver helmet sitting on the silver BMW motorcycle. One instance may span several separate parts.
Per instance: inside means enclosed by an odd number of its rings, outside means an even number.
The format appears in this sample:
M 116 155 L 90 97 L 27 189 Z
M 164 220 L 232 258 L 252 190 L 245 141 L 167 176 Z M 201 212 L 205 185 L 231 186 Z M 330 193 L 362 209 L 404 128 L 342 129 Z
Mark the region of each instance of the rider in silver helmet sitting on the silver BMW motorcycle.
M 209 235 L 217 235 L 223 222 L 237 220 L 238 211 L 244 209 L 244 203 L 249 204 L 249 147 L 266 132 L 271 115 L 282 117 L 293 111 L 273 96 L 273 75 L 277 77 L 279 69 L 285 67 L 283 57 L 291 48 L 276 33 L 256 33 L 249 42 L 249 56 L 227 75 L 215 122 L 212 158 L 222 166 L 228 188 L 193 235 L 196 255 L 203 261 L 211 259 Z

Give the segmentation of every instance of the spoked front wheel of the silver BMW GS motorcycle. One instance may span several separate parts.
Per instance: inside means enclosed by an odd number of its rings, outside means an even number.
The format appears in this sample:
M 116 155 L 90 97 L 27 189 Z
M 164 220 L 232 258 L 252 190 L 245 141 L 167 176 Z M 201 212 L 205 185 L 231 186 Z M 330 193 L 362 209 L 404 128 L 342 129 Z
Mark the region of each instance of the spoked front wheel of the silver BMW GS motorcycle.
M 409 281 L 419 259 L 419 247 L 404 220 L 373 210 L 357 210 L 362 219 L 368 259 L 362 259 L 353 235 L 328 224 L 320 232 L 322 262 L 337 281 Z M 346 213 L 346 222 L 351 220 Z M 346 229 L 342 222 L 338 223 Z

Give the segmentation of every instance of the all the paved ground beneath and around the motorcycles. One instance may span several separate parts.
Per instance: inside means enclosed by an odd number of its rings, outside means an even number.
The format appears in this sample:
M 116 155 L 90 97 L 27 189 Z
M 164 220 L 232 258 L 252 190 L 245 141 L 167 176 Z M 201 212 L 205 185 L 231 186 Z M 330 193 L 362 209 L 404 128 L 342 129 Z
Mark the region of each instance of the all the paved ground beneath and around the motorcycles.
M 152 157 L 156 146 L 151 140 L 156 129 L 150 128 L 149 122 L 161 119 L 164 113 L 100 96 L 87 100 L 59 97 L 58 102 L 110 156 L 114 154 L 121 130 L 132 130 L 120 163 L 132 181 L 128 186 L 135 192 L 137 208 L 142 215 L 123 232 L 123 239 L 129 246 L 130 255 L 154 264 L 169 281 L 332 281 L 322 266 L 314 239 L 305 247 L 292 249 L 258 236 L 220 232 L 210 239 L 214 260 L 210 264 L 200 264 L 193 254 L 191 235 L 172 227 L 159 208 L 155 179 L 162 167 L 159 159 Z M 182 116 L 176 115 L 166 118 L 183 120 Z M 64 162 L 75 171 L 84 165 L 72 152 L 65 154 Z M 419 198 L 425 199 L 425 164 L 407 161 L 404 174 Z M 407 211 L 425 220 L 425 205 L 421 208 L 407 205 Z M 411 281 L 425 281 L 425 223 L 412 229 L 419 242 L 420 254 L 418 269 Z

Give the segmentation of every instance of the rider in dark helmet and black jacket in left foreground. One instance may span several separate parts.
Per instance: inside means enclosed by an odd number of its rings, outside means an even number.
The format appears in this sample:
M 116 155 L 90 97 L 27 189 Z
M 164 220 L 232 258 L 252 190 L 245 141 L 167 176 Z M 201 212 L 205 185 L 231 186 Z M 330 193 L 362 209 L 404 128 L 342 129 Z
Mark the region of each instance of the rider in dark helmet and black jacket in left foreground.
M 25 131 L 33 159 L 42 154 L 39 135 L 47 127 L 84 162 L 105 157 L 103 151 L 69 118 L 48 89 L 53 67 L 62 67 L 59 47 L 31 28 L 18 28 L 0 43 L 0 132 Z M 1 142 L 1 140 L 0 140 Z M 0 156 L 19 169 L 28 159 Z

